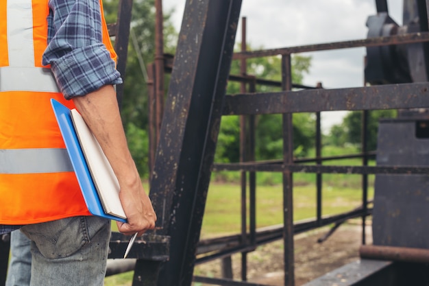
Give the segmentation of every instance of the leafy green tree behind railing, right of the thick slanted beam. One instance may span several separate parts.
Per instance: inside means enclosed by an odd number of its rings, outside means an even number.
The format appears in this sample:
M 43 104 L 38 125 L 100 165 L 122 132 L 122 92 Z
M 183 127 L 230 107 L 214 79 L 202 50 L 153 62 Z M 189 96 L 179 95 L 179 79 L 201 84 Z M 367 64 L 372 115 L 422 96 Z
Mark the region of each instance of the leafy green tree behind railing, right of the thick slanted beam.
M 249 50 L 252 50 L 249 47 Z M 292 80 L 302 84 L 304 73 L 310 69 L 310 57 L 292 57 Z M 266 80 L 280 81 L 281 58 L 252 58 L 247 61 L 247 73 Z M 240 74 L 240 62 L 234 60 L 231 74 Z M 257 86 L 258 92 L 280 91 L 277 86 Z M 228 94 L 240 92 L 239 82 L 228 82 Z M 281 115 L 259 115 L 256 117 L 256 159 L 283 158 L 283 134 Z M 216 162 L 238 162 L 239 160 L 239 117 L 222 117 L 221 130 L 217 142 Z M 304 156 L 315 143 L 315 116 L 309 113 L 293 115 L 293 143 L 295 156 Z

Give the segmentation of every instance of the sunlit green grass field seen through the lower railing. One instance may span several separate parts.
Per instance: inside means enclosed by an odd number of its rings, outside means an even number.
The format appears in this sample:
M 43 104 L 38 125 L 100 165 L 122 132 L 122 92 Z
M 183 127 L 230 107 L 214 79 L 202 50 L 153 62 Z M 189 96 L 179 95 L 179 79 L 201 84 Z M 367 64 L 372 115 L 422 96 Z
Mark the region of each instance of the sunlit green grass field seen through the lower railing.
M 314 175 L 312 175 L 314 176 Z M 357 175 L 348 175 L 350 177 Z M 359 178 L 358 178 L 359 179 Z M 356 180 L 356 178 L 352 178 Z M 346 177 L 339 180 L 346 184 Z M 146 187 L 147 189 L 147 187 Z M 369 198 L 373 187 L 369 187 Z M 360 206 L 362 191 L 356 187 L 338 187 L 323 184 L 323 215 L 350 211 Z M 256 187 L 257 227 L 282 224 L 283 194 L 281 185 Z M 314 184 L 297 185 L 293 188 L 294 220 L 316 216 L 316 188 Z M 241 187 L 234 183 L 212 183 L 208 191 L 201 238 L 219 237 L 240 232 Z M 116 227 L 115 224 L 112 224 Z M 132 272 L 105 279 L 106 286 L 132 285 Z

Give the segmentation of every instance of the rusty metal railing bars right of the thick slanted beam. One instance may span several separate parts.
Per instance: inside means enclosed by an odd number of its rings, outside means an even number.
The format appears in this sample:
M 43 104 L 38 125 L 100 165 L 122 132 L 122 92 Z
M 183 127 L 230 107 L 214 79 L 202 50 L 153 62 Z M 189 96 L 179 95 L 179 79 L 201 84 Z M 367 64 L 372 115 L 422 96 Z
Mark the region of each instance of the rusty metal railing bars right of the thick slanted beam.
M 429 5 L 429 0 L 426 0 L 426 5 Z M 387 11 L 387 3 L 385 0 L 377 1 L 377 8 L 380 11 Z M 185 15 L 186 16 L 186 15 Z M 317 87 L 308 86 L 294 86 L 291 82 L 291 70 L 290 60 L 293 53 L 302 53 L 308 51 L 326 51 L 334 49 L 347 49 L 353 47 L 378 47 L 383 45 L 403 45 L 407 43 L 427 43 L 429 41 L 428 32 L 419 32 L 414 34 L 406 34 L 400 36 L 389 36 L 380 38 L 368 38 L 363 40 L 350 40 L 336 43 L 326 43 L 320 45 L 306 45 L 302 47 L 286 47 L 282 49 L 268 49 L 262 51 L 243 51 L 235 53 L 233 59 L 242 60 L 245 65 L 245 60 L 249 58 L 258 58 L 265 56 L 282 56 L 282 82 L 273 82 L 264 79 L 256 79 L 245 73 L 245 69 L 241 71 L 241 75 L 230 75 L 230 80 L 237 80 L 244 84 L 255 86 L 256 84 L 267 84 L 272 86 L 279 86 L 283 89 L 282 92 L 278 93 L 254 93 L 255 89 L 249 90 L 247 93 L 245 88 L 242 88 L 240 95 L 226 95 L 224 98 L 224 106 L 222 115 L 243 115 L 243 119 L 247 118 L 249 121 L 246 123 L 242 120 L 241 129 L 241 147 L 243 152 L 241 163 L 236 164 L 215 164 L 212 165 L 212 171 L 230 170 L 230 171 L 242 171 L 242 182 L 247 182 L 246 172 L 249 172 L 249 176 L 252 176 L 256 171 L 278 171 L 284 174 L 284 208 L 287 210 L 284 213 L 284 225 L 274 228 L 273 230 L 260 230 L 256 231 L 254 226 L 251 227 L 250 233 L 247 233 L 244 229 L 247 226 L 242 226 L 240 235 L 223 237 L 220 239 L 212 239 L 207 241 L 199 241 L 197 245 L 197 254 L 203 254 L 214 252 L 214 254 L 206 255 L 197 259 L 196 263 L 204 263 L 212 259 L 225 258 L 231 254 L 242 252 L 242 265 L 243 275 L 242 282 L 228 281 L 228 279 L 208 279 L 208 278 L 195 278 L 195 281 L 204 281 L 206 283 L 219 284 L 219 285 L 252 285 L 245 283 L 245 264 L 246 264 L 246 253 L 254 250 L 255 246 L 262 243 L 268 243 L 270 241 L 284 239 L 285 249 L 285 285 L 294 285 L 293 279 L 293 235 L 299 233 L 299 231 L 306 231 L 312 228 L 318 228 L 320 226 L 326 226 L 330 223 L 343 222 L 345 219 L 351 217 L 362 217 L 363 224 L 365 224 L 365 217 L 371 214 L 371 208 L 368 207 L 367 200 L 367 174 L 428 174 L 428 167 L 415 167 L 415 166 L 401 166 L 401 167 L 370 167 L 367 165 L 369 157 L 374 156 L 373 152 L 369 152 L 363 142 L 363 151 L 361 154 L 352 154 L 350 156 L 340 156 L 336 158 L 352 158 L 358 157 L 363 159 L 362 166 L 323 166 L 324 160 L 334 158 L 322 158 L 320 152 L 316 158 L 309 158 L 305 160 L 293 160 L 291 150 L 291 114 L 293 112 L 322 112 L 328 110 L 363 110 L 363 141 L 365 141 L 365 132 L 368 120 L 369 110 L 379 109 L 392 109 L 392 108 L 421 108 L 429 107 L 428 96 L 428 83 L 419 84 L 393 84 L 388 86 L 367 86 L 363 88 L 341 88 L 341 89 L 330 89 L 326 90 Z M 201 56 L 201 55 L 200 55 Z M 208 58 L 205 58 L 208 60 Z M 167 64 L 164 61 L 164 70 L 168 71 L 171 69 L 171 64 Z M 185 72 L 185 66 L 174 67 L 176 72 Z M 183 83 L 181 83 L 183 84 Z M 293 87 L 304 88 L 302 91 L 291 91 Z M 176 90 L 180 91 L 180 90 Z M 168 108 L 167 108 L 168 109 Z M 248 126 L 252 122 L 252 116 L 258 114 L 274 114 L 280 113 L 284 116 L 284 158 L 280 162 L 254 162 L 249 160 L 251 156 L 247 154 L 249 146 L 246 142 L 243 142 L 249 138 Z M 169 119 L 169 123 L 172 122 L 172 118 Z M 164 123 L 163 123 L 164 124 Z M 167 123 L 168 124 L 168 123 Z M 165 126 L 164 126 L 165 128 Z M 317 119 L 316 128 L 320 128 L 320 118 Z M 247 131 L 246 131 L 247 130 Z M 162 132 L 162 130 L 161 130 Z M 166 132 L 166 130 L 164 130 Z M 168 132 L 167 132 L 168 133 Z M 319 135 L 320 136 L 320 135 Z M 250 136 L 252 137 L 252 136 Z M 318 139 L 317 148 L 321 147 L 320 138 Z M 161 149 L 165 151 L 167 149 Z M 177 151 L 177 150 L 176 150 Z M 245 156 L 245 154 L 247 154 Z M 211 154 L 213 155 L 213 154 Z M 162 154 L 163 157 L 167 158 L 167 154 Z M 300 165 L 299 163 L 304 162 L 315 162 L 316 165 Z M 164 161 L 164 163 L 171 164 L 173 161 Z M 302 224 L 293 225 L 292 217 L 292 174 L 294 172 L 308 172 L 315 173 L 318 175 L 324 173 L 341 173 L 341 174 L 358 174 L 362 175 L 363 182 L 363 206 L 356 210 L 348 213 L 343 213 L 333 217 L 322 217 L 321 216 L 321 201 L 318 199 L 317 202 L 317 218 L 314 221 L 305 222 Z M 156 176 L 160 176 L 160 172 L 155 169 Z M 208 174 L 202 174 L 201 178 L 208 180 Z M 250 177 L 249 177 L 250 178 Z M 175 178 L 174 180 L 176 180 Z M 168 180 L 168 179 L 167 179 Z M 321 177 L 318 181 L 318 197 L 321 196 Z M 173 182 L 175 184 L 175 182 Z M 171 185 L 173 185 L 171 184 Z M 254 182 L 251 182 L 251 186 Z M 156 184 L 153 187 L 164 187 L 162 184 Z M 167 186 L 168 187 L 168 186 Z M 171 187 L 171 186 L 170 186 Z M 168 188 L 167 188 L 168 189 Z M 170 189 L 174 189 L 171 187 Z M 177 189 L 176 189 L 177 191 Z M 242 200 L 245 200 L 247 190 L 242 186 Z M 191 197 L 190 197 L 191 198 Z M 189 199 L 189 198 L 188 198 Z M 171 202 L 169 202 L 170 204 Z M 204 200 L 197 202 L 201 204 L 199 207 L 204 208 Z M 250 206 L 252 208 L 252 206 Z M 175 208 L 174 211 L 177 211 Z M 247 206 L 243 204 L 243 220 L 246 220 Z M 250 215 L 254 215 L 252 211 Z M 173 215 L 173 218 L 175 216 Z M 244 230 L 244 231 L 243 231 Z M 195 231 L 195 230 L 194 230 Z M 196 233 L 194 233 L 196 235 Z M 191 243 L 191 246 L 196 243 L 195 240 L 187 241 Z M 363 243 L 365 243 L 365 232 L 363 232 Z M 182 266 L 181 266 L 182 267 Z M 193 266 L 191 266 L 193 267 Z M 216 281 L 215 281 L 216 280 Z M 189 281 L 188 281 L 189 282 Z

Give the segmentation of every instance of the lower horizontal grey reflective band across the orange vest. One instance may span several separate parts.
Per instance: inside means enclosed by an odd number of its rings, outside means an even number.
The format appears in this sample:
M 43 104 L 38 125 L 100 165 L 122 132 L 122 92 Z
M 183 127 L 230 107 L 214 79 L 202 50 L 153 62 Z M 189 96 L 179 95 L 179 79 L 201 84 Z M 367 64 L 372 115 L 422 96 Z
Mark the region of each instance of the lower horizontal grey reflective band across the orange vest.
M 0 174 L 73 171 L 65 149 L 0 149 Z

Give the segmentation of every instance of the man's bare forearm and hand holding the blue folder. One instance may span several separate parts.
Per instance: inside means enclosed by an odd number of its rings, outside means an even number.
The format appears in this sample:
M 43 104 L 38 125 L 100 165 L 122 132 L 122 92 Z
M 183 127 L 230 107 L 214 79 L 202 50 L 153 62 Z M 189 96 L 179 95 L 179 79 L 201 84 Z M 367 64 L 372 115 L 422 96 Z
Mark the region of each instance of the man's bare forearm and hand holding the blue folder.
M 127 224 L 118 223 L 119 231 L 125 234 L 154 228 L 156 215 L 145 193 L 130 150 L 113 86 L 103 86 L 84 97 L 75 97 L 73 102 L 93 132 L 101 149 L 106 154 L 121 191 L 119 198 L 127 215 Z

